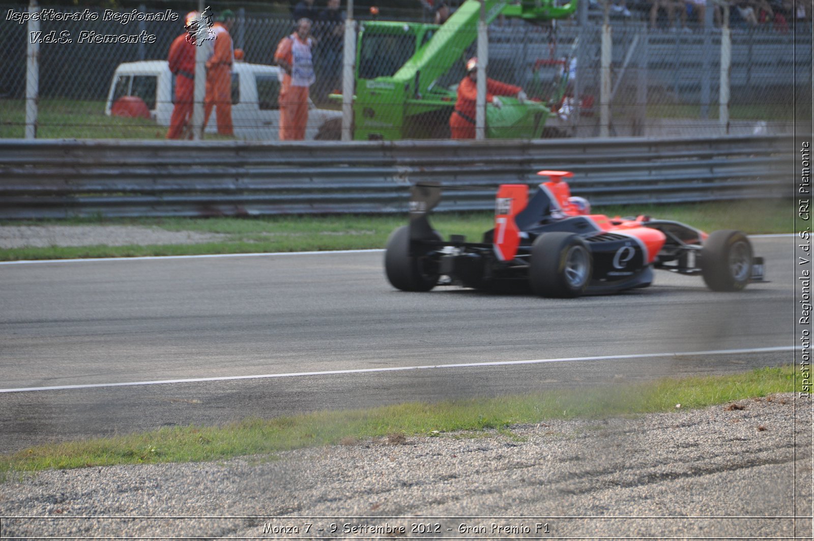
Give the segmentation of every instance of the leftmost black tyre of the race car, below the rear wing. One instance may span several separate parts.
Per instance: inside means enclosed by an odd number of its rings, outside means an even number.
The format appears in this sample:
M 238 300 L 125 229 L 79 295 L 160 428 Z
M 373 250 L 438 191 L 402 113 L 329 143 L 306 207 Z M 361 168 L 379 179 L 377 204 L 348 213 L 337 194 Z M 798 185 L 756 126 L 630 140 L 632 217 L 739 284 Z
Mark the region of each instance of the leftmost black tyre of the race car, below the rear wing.
M 440 240 L 440 237 L 439 239 Z M 402 291 L 430 291 L 438 284 L 438 263 L 426 255 L 410 255 L 409 227 L 390 234 L 384 252 L 384 271 L 390 283 Z

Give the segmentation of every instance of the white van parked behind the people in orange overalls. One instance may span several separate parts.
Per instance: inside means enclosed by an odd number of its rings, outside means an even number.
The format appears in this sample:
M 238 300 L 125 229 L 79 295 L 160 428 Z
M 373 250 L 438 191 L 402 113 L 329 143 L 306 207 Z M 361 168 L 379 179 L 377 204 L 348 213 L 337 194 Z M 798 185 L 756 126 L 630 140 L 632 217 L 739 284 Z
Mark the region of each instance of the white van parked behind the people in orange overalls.
M 232 125 L 239 139 L 279 139 L 279 68 L 264 64 L 232 64 Z M 105 114 L 122 96 L 136 96 L 147 105 L 150 117 L 169 126 L 175 99 L 175 76 L 166 60 L 142 60 L 119 64 L 107 93 Z M 305 139 L 339 139 L 342 112 L 317 109 L 310 103 Z M 215 112 L 209 117 L 206 133 L 217 133 Z

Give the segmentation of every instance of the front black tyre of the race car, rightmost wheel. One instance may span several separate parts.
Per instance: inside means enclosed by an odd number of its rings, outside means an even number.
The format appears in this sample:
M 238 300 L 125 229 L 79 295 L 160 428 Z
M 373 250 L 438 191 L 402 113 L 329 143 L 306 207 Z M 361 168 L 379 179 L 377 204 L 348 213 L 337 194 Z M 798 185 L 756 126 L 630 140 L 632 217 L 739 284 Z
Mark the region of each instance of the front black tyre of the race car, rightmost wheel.
M 701 274 L 712 291 L 740 291 L 752 273 L 752 244 L 741 231 L 712 231 L 701 247 Z

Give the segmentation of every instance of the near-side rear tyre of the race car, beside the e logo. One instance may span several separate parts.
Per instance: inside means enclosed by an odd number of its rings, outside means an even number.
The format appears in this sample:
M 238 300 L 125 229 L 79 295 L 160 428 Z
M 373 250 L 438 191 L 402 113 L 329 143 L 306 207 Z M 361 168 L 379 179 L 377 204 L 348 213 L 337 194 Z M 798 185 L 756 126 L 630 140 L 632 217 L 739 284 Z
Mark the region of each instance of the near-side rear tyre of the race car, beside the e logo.
M 528 281 L 542 297 L 579 297 L 588 288 L 593 258 L 579 235 L 544 233 L 532 244 Z

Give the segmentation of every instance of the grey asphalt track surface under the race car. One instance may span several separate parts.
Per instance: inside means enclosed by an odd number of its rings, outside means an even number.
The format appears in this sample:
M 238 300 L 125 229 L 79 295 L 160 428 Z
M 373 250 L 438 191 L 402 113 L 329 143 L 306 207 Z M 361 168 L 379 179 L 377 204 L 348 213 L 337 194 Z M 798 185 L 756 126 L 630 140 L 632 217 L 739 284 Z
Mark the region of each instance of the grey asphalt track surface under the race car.
M 794 345 L 794 239 L 753 244 L 770 281 L 744 292 L 659 271 L 651 288 L 573 300 L 399 292 L 381 252 L 2 265 L 0 452 L 792 363 L 791 350 L 765 349 Z M 726 350 L 763 351 L 636 356 Z M 541 359 L 575 360 L 477 366 Z M 359 372 L 462 363 L 475 366 Z M 283 374 L 301 375 L 245 377 Z M 226 379 L 188 381 L 201 378 Z M 86 387 L 158 380 L 177 382 Z M 8 392 L 28 388 L 41 390 Z

